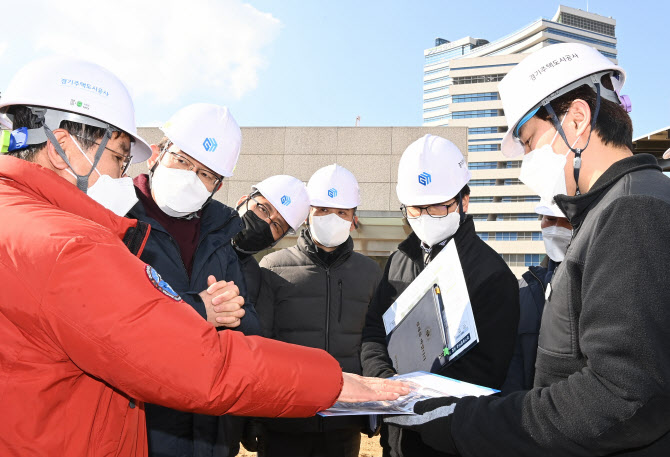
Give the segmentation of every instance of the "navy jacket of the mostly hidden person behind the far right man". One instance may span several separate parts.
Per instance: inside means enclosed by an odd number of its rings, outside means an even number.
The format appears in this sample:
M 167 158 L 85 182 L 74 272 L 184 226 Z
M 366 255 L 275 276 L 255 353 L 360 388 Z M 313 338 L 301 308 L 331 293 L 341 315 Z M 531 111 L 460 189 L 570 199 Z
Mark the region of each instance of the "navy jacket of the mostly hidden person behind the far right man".
M 501 389 L 503 395 L 533 388 L 544 295 L 558 265 L 548 257 L 547 260 L 547 268 L 528 267 L 528 271 L 519 279 L 519 330 L 507 379 Z

